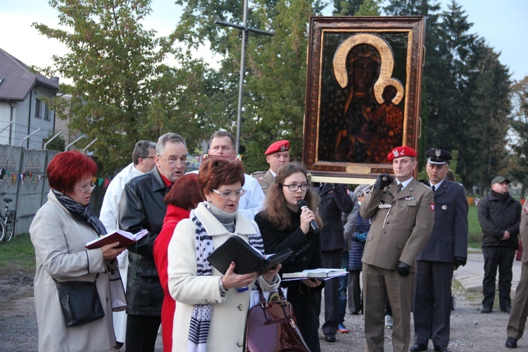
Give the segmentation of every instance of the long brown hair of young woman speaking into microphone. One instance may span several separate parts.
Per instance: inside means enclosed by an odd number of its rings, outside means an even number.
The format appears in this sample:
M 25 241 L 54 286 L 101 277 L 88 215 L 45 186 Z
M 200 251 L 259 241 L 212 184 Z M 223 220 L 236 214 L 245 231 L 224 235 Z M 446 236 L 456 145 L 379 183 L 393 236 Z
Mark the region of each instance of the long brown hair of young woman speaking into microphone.
M 304 177 L 306 177 L 306 182 L 308 182 L 308 172 L 303 164 L 296 161 L 287 163 L 279 170 L 277 178 L 275 178 L 275 183 L 272 184 L 268 190 L 265 206 L 261 212 L 265 218 L 268 218 L 268 221 L 279 230 L 285 230 L 291 227 L 286 199 L 284 199 L 284 193 L 282 192 L 284 187 L 282 186 L 284 185 L 284 180 L 297 172 L 302 172 Z M 310 184 L 310 182 L 308 182 L 308 184 Z M 310 184 L 310 188 L 311 187 L 312 185 Z M 308 208 L 315 213 L 315 221 L 318 223 L 319 227 L 322 227 L 321 218 L 319 218 L 317 213 L 319 195 L 311 189 L 308 189 L 304 200 L 306 201 L 306 204 L 308 204 Z

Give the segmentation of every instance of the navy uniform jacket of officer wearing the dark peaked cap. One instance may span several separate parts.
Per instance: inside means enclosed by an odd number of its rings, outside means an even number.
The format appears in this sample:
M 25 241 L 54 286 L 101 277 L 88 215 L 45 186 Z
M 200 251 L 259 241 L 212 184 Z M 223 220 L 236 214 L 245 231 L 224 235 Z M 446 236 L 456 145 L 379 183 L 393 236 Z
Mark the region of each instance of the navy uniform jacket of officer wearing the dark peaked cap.
M 453 263 L 467 258 L 467 199 L 460 184 L 444 180 L 434 191 L 434 227 L 418 260 Z

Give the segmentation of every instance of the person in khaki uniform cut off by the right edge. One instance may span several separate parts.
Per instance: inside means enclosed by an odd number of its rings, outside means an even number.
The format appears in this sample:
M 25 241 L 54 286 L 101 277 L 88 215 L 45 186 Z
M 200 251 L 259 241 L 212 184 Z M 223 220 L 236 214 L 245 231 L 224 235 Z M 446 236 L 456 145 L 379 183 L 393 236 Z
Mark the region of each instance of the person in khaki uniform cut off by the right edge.
M 528 200 L 524 201 L 522 207 L 520 236 L 523 244 L 528 246 Z M 528 317 L 528 253 L 522 253 L 521 278 L 515 290 L 515 297 L 513 298 L 512 311 L 510 319 L 508 320 L 508 327 L 506 333 L 506 347 L 517 348 L 517 340 L 522 337 L 524 327 L 526 327 L 526 319 Z

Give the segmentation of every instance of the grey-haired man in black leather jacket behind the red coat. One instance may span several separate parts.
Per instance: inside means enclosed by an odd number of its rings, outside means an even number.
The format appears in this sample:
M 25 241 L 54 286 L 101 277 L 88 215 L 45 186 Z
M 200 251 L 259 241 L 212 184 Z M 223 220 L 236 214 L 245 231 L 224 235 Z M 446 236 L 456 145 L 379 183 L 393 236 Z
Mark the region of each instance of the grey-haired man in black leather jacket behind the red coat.
M 185 173 L 187 146 L 175 133 L 163 134 L 156 144 L 156 168 L 125 185 L 119 206 L 119 227 L 132 233 L 143 229 L 149 234 L 127 247 L 127 332 L 125 348 L 130 351 L 154 351 L 161 324 L 163 289 L 153 258 L 167 206 L 163 199 L 172 184 Z

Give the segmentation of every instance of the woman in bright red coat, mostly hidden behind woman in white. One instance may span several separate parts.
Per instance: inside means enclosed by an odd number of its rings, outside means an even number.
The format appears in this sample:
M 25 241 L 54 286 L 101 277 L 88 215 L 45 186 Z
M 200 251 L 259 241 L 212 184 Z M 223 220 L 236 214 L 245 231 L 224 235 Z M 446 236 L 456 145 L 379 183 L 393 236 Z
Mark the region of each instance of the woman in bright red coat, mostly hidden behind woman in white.
M 191 210 L 196 208 L 201 201 L 203 201 L 203 195 L 198 187 L 197 174 L 187 174 L 177 180 L 165 196 L 167 213 L 163 219 L 161 232 L 154 241 L 154 262 L 165 295 L 161 306 L 161 332 L 165 352 L 172 351 L 172 320 L 176 309 L 176 301 L 170 296 L 168 287 L 167 249 L 177 223 L 189 218 Z

